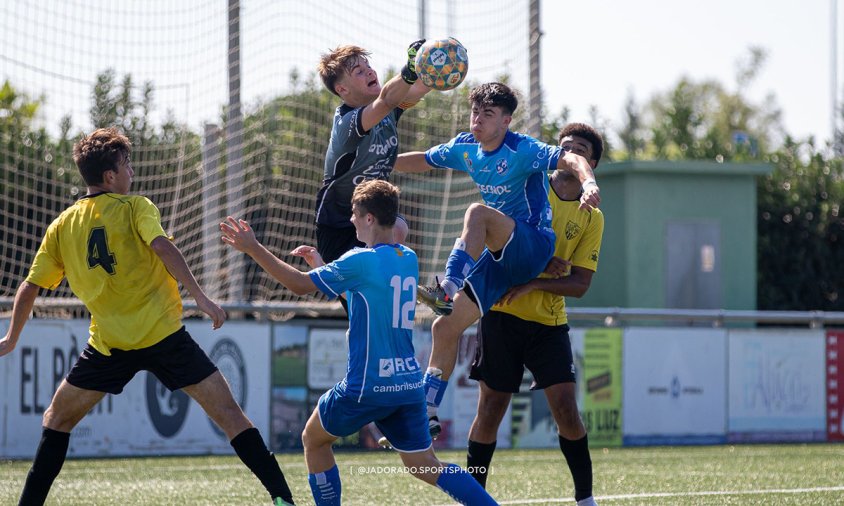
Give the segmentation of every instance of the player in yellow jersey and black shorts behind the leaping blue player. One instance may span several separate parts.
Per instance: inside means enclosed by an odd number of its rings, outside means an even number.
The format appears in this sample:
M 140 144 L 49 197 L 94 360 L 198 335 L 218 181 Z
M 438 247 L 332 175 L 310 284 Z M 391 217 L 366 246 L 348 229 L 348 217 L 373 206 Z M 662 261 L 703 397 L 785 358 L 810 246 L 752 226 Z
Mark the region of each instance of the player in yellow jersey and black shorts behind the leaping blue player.
M 596 169 L 603 153 L 597 130 L 571 123 L 559 134 L 560 147 L 577 153 Z M 510 399 L 519 392 L 524 369 L 533 373 L 531 390 L 544 390 L 557 423 L 558 440 L 574 480 L 578 506 L 595 506 L 592 459 L 586 428 L 577 409 L 575 368 L 569 339 L 566 297 L 582 297 L 598 268 L 604 216 L 581 209 L 580 181 L 568 172 L 549 177 L 551 221 L 557 233 L 555 258 L 567 265 L 564 276 L 542 275 L 514 286 L 478 324 L 478 348 L 469 377 L 480 389 L 478 412 L 469 431 L 467 466 L 486 487 L 498 427 Z

